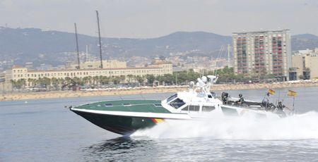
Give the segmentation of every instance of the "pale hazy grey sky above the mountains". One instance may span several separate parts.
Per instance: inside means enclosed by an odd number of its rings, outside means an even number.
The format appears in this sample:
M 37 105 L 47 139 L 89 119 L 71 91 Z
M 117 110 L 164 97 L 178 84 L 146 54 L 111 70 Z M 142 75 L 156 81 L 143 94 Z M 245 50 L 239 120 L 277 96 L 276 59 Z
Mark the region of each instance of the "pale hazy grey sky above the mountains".
M 160 37 L 176 31 L 220 35 L 290 29 L 318 35 L 317 0 L 0 0 L 0 26 L 36 27 L 103 37 Z

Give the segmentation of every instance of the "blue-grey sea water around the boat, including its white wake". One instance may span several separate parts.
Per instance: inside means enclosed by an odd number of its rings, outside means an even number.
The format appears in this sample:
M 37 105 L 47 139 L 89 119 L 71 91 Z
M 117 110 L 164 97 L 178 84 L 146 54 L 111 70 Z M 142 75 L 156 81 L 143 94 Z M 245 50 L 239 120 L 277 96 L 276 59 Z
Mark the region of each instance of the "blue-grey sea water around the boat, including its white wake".
M 0 102 L 0 161 L 317 161 L 318 87 L 275 89 L 296 116 L 162 123 L 120 137 L 64 108 L 113 99 L 164 99 L 171 94 Z M 261 101 L 266 89 L 228 91 Z M 217 92 L 220 94 L 220 92 Z

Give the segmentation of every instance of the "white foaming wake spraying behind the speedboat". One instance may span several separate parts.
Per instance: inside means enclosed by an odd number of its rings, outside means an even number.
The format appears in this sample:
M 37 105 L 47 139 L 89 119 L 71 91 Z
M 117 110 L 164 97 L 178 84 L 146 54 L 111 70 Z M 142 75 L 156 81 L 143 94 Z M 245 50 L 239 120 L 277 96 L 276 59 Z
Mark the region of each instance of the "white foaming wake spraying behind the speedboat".
M 204 121 L 174 120 L 147 130 L 138 130 L 131 137 L 284 140 L 318 139 L 318 112 L 310 111 L 279 119 L 254 117 L 218 118 Z

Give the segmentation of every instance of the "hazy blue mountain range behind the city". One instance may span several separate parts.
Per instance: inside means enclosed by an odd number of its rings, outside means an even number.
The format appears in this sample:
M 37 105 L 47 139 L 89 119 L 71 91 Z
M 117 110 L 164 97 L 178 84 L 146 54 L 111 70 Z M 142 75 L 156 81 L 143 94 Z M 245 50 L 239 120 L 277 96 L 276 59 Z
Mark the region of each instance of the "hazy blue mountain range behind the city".
M 211 32 L 174 32 L 151 39 L 102 38 L 104 58 L 129 58 L 130 56 L 170 56 L 187 53 L 199 56 L 217 56 L 221 46 L 232 43 L 232 37 Z M 293 35 L 292 50 L 318 47 L 316 35 Z M 98 38 L 78 35 L 80 51 L 98 56 Z M 25 62 L 61 65 L 70 57 L 67 52 L 76 51 L 75 35 L 70 32 L 45 31 L 37 28 L 0 27 L 0 61 L 11 60 L 17 64 Z M 73 56 L 71 56 L 73 57 Z

